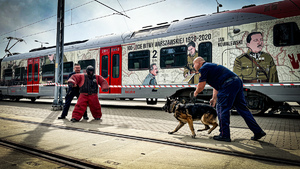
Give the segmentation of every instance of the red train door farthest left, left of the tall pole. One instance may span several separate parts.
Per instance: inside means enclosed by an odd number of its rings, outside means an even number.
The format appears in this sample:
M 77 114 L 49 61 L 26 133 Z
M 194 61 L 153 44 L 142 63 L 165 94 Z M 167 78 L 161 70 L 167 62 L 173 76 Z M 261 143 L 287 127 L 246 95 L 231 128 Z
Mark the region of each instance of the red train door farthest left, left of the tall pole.
M 39 67 L 40 59 L 28 59 L 27 63 L 27 93 L 39 93 Z

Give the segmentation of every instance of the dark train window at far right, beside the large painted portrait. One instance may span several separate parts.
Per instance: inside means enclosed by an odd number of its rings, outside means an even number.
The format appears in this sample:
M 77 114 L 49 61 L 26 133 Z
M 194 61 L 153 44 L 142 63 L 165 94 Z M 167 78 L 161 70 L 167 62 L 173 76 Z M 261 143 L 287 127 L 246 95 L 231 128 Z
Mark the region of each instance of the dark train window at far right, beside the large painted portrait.
M 300 44 L 300 31 L 295 22 L 277 24 L 273 28 L 273 43 L 275 46 L 290 46 Z

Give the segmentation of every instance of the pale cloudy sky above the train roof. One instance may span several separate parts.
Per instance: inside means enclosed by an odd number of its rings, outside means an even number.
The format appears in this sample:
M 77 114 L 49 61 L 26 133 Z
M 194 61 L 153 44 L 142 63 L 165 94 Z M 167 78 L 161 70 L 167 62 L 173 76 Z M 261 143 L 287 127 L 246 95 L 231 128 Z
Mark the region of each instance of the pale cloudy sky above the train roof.
M 217 11 L 216 0 L 65 0 L 64 42 L 94 39 L 136 31 L 143 26 L 182 20 Z M 220 11 L 279 0 L 218 0 Z M 6 55 L 7 37 L 21 38 L 11 53 L 56 45 L 58 0 L 0 0 L 0 58 Z M 39 42 L 35 42 L 35 40 Z M 11 47 L 16 40 L 10 42 Z M 45 44 L 47 42 L 48 44 Z

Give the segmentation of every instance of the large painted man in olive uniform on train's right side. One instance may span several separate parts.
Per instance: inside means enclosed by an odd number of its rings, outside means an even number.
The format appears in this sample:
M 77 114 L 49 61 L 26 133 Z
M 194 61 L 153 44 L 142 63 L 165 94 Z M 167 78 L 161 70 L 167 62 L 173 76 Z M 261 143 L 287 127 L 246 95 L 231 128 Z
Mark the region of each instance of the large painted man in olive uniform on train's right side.
M 233 72 L 244 83 L 276 83 L 278 73 L 273 57 L 262 51 L 263 34 L 252 32 L 246 38 L 247 53 L 238 56 L 234 61 Z

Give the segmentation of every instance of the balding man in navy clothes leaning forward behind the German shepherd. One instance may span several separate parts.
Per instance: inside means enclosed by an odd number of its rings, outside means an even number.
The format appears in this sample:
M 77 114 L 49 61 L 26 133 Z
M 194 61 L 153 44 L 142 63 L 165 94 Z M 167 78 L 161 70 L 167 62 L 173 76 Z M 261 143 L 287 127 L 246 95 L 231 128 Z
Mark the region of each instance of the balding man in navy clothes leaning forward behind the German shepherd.
M 220 134 L 214 136 L 214 140 L 230 142 L 230 109 L 234 106 L 237 112 L 244 118 L 249 129 L 254 133 L 251 140 L 258 140 L 266 135 L 259 127 L 253 115 L 247 108 L 243 93 L 242 80 L 226 67 L 214 63 L 207 63 L 202 57 L 197 57 L 193 61 L 195 70 L 199 71 L 199 83 L 194 92 L 196 97 L 203 91 L 206 83 L 212 86 L 213 97 L 210 104 L 215 107 L 219 118 Z

